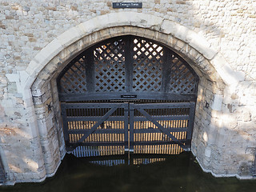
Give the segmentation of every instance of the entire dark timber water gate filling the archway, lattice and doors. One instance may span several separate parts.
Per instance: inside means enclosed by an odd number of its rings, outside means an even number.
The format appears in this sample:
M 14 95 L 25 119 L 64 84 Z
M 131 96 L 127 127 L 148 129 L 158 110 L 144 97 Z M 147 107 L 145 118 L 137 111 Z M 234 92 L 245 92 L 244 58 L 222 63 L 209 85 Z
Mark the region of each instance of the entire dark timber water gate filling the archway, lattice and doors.
M 58 77 L 66 150 L 76 156 L 179 154 L 190 149 L 198 76 L 146 38 L 91 46 Z

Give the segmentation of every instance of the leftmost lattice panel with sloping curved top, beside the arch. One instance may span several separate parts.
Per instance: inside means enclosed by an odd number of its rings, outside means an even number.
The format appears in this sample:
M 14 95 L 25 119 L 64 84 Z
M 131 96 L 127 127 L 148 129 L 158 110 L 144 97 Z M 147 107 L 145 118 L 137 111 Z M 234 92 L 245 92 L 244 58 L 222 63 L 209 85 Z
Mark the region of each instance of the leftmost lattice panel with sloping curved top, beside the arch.
M 85 58 L 80 58 L 70 66 L 69 70 L 60 79 L 62 93 L 74 94 L 86 92 Z

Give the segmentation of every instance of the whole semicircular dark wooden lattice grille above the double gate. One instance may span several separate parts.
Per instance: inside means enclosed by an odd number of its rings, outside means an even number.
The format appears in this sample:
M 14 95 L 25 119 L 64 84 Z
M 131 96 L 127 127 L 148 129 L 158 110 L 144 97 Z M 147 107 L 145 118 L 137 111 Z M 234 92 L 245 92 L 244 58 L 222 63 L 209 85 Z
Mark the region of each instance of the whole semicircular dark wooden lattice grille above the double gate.
M 158 42 L 134 36 L 110 38 L 91 46 L 58 78 L 61 101 L 77 101 L 78 96 L 79 101 L 113 99 L 127 93 L 145 99 L 152 92 L 158 94 L 154 99 L 172 99 L 166 94 L 175 94 L 174 100 L 190 100 L 191 95 L 196 97 L 197 86 L 198 76 L 178 54 Z M 101 93 L 105 98 L 100 98 Z

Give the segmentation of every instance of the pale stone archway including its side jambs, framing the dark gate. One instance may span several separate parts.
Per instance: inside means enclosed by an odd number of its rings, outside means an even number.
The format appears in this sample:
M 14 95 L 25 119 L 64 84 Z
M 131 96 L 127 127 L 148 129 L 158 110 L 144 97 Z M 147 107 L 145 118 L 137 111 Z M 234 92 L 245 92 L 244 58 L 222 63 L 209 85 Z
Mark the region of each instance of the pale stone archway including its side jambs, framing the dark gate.
M 54 79 L 82 50 L 106 38 L 126 34 L 161 42 L 180 54 L 197 72 L 200 82 L 194 135 L 201 137 L 206 121 L 211 122 L 210 109 L 204 107 L 206 103 L 214 106 L 214 99 L 223 94 L 224 87 L 237 83 L 243 76 L 232 70 L 205 38 L 176 22 L 150 14 L 106 14 L 74 26 L 39 51 L 22 73 L 23 98 L 34 126 L 30 129 L 38 129 L 47 175 L 54 174 L 65 154 Z M 194 136 L 192 150 L 194 154 L 204 155 L 205 146 L 198 144 L 199 136 Z

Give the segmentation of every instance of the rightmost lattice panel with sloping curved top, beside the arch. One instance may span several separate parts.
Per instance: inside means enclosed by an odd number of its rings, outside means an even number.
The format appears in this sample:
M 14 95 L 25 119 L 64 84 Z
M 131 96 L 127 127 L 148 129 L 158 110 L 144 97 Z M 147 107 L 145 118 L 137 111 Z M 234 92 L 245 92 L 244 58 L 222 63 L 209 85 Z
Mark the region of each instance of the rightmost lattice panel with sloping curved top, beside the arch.
M 197 79 L 190 69 L 175 55 L 172 55 L 170 72 L 170 93 L 195 94 Z

